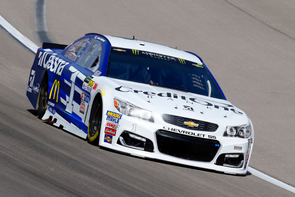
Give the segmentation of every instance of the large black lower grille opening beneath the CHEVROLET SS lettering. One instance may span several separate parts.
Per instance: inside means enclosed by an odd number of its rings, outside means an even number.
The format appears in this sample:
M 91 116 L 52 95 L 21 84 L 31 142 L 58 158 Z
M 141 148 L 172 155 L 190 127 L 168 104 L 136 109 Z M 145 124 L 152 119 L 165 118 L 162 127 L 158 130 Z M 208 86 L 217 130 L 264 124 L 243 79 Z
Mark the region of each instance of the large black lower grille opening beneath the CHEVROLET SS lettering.
M 211 162 L 221 146 L 218 140 L 164 130 L 156 132 L 156 140 L 160 153 L 198 162 Z

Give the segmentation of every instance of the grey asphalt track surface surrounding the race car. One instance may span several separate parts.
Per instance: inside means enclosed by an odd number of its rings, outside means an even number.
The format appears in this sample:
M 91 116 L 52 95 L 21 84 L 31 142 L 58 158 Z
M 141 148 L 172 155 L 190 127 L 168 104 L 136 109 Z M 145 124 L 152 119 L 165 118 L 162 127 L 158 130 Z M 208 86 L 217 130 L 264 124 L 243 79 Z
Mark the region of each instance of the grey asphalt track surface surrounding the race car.
M 0 15 L 38 46 L 95 32 L 200 55 L 254 124 L 250 166 L 295 186 L 294 0 L 50 0 L 47 29 L 36 27 L 38 1 L 0 0 Z M 0 40 L 0 197 L 294 197 L 251 174 L 130 157 L 44 123 L 26 97 L 34 55 L 3 29 Z

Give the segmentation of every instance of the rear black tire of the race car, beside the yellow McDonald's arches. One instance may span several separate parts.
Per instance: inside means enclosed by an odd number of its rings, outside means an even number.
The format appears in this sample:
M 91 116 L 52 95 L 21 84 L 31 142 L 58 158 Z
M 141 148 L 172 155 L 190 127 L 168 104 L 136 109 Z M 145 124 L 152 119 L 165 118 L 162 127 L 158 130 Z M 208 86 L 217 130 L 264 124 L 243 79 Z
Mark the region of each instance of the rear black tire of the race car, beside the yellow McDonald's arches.
M 40 87 L 40 92 L 38 96 L 38 108 L 37 112 L 40 118 L 43 117 L 45 114 L 45 111 L 47 109 L 47 97 L 48 97 L 48 79 L 47 77 L 43 77 L 41 87 Z

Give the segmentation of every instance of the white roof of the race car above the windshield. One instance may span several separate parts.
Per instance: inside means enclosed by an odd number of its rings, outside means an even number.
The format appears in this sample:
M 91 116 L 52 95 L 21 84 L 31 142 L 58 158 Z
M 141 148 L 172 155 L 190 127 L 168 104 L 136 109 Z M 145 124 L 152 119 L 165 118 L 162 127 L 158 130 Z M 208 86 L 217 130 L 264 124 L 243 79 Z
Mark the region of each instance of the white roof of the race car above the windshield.
M 155 44 L 155 43 L 142 41 L 142 40 L 137 40 L 137 39 L 116 37 L 111 35 L 104 35 L 104 36 L 110 41 L 111 45 L 114 47 L 148 51 L 152 53 L 172 56 L 172 57 L 192 61 L 195 63 L 203 64 L 202 61 L 197 56 L 185 51 L 168 47 L 168 46 Z

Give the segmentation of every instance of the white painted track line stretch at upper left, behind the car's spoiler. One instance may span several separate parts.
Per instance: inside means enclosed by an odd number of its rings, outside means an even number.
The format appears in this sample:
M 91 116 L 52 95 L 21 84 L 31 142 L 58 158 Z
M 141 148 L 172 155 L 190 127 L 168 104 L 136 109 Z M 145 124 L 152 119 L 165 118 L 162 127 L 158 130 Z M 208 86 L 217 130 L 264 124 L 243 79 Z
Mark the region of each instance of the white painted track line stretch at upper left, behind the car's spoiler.
M 0 15 L 0 25 L 9 32 L 13 37 L 18 39 L 21 43 L 29 48 L 32 52 L 36 53 L 39 48 L 32 41 L 30 41 L 26 36 L 17 31 L 14 27 L 12 27 L 1 15 Z

